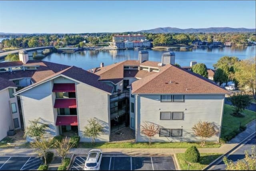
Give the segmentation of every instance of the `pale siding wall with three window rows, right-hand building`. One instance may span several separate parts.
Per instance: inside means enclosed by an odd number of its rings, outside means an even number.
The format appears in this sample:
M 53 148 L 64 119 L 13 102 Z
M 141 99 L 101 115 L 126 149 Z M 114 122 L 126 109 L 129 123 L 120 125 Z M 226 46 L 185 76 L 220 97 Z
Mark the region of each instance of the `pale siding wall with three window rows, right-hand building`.
M 210 121 L 220 127 L 224 95 L 185 95 L 185 102 L 160 102 L 160 95 L 140 95 L 138 97 L 138 139 L 148 141 L 140 134 L 140 124 L 144 121 L 152 122 L 162 128 L 183 129 L 182 137 L 159 137 L 155 135 L 153 141 L 200 141 L 193 135 L 192 127 L 201 121 Z M 160 120 L 161 111 L 182 111 L 184 120 Z M 218 141 L 214 136 L 208 141 Z

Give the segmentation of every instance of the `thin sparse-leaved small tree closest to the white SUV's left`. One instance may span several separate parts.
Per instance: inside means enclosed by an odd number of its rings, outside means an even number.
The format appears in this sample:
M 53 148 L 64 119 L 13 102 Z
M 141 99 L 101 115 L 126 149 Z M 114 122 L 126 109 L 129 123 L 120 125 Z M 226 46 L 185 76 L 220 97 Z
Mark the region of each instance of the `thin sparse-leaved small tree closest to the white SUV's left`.
M 56 152 L 61 157 L 62 165 L 64 165 L 64 161 L 66 156 L 68 155 L 68 151 L 74 146 L 74 144 L 70 143 L 70 138 L 65 137 L 60 141 L 55 142 Z

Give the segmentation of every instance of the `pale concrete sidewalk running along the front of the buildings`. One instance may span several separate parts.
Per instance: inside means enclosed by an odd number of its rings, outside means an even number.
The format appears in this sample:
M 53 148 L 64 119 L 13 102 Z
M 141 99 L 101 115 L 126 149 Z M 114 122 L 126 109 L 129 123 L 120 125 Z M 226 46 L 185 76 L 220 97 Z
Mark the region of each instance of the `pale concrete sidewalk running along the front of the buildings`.
M 236 145 L 238 145 L 241 141 L 243 141 L 249 135 L 255 134 L 256 130 L 256 121 L 252 121 L 247 125 L 247 128 L 242 133 L 238 134 L 235 138 L 230 140 L 228 143 L 222 145 L 220 148 L 198 148 L 200 153 L 227 153 L 231 149 L 233 149 Z M 78 154 L 78 155 L 86 155 L 90 149 L 86 148 L 72 148 L 70 149 L 70 153 Z M 55 150 L 53 150 L 55 151 Z M 106 155 L 129 155 L 129 156 L 165 156 L 165 155 L 174 155 L 174 153 L 184 153 L 186 148 L 170 148 L 170 149 L 134 149 L 134 148 L 109 148 L 102 149 L 102 152 Z M 24 149 L 24 148 L 6 148 L 0 149 L 0 156 L 37 156 L 37 153 L 34 149 Z

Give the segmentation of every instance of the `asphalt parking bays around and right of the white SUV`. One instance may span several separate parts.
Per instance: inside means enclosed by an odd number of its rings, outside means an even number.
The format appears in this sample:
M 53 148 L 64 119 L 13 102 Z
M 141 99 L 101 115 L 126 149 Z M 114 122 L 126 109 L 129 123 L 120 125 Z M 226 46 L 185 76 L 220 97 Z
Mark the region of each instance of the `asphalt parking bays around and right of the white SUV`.
M 77 156 L 71 170 L 83 170 L 86 157 Z M 175 170 L 172 157 L 102 156 L 101 170 Z

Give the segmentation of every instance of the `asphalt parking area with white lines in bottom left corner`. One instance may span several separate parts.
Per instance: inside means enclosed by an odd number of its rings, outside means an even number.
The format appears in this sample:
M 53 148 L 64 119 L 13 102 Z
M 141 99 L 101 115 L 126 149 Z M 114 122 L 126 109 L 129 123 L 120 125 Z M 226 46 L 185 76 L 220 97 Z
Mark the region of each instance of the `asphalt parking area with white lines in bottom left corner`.
M 37 170 L 39 157 L 0 157 L 0 170 Z

